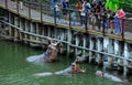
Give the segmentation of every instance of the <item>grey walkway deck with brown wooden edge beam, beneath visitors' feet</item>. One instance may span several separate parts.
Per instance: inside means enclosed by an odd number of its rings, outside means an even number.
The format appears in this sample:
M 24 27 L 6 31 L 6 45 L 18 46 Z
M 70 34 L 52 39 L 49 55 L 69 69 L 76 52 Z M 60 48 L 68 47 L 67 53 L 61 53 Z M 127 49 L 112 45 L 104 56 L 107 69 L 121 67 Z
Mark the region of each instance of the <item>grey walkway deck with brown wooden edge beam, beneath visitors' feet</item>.
M 30 17 L 28 7 L 23 6 L 23 10 L 21 10 L 20 8 L 18 10 L 16 7 L 14 7 L 14 6 L 16 6 L 16 3 L 14 3 L 10 0 L 7 0 L 7 1 L 8 1 L 8 8 L 6 7 L 6 0 L 0 0 L 0 8 L 6 9 L 12 13 L 15 13 L 15 14 L 20 15 L 21 18 L 31 20 L 32 22 L 38 22 L 38 23 L 43 23 L 43 24 L 54 25 L 57 28 L 70 29 L 70 30 L 75 30 L 78 32 L 82 32 L 82 33 L 89 33 L 89 34 L 98 35 L 98 36 L 103 36 L 103 33 L 101 33 L 101 32 L 86 30 L 85 28 L 82 28 L 80 25 L 69 26 L 69 24 L 62 23 L 64 20 L 62 20 L 62 22 L 59 22 L 59 23 L 57 22 L 55 24 L 53 17 L 50 17 L 46 14 L 42 14 L 43 17 L 41 17 L 41 12 L 36 11 L 34 9 L 31 9 L 31 17 Z M 108 34 L 108 33 L 105 33 L 105 36 L 108 36 L 110 39 L 120 40 L 120 41 L 132 42 L 132 33 L 130 33 L 130 32 L 124 32 L 123 39 L 121 35 Z

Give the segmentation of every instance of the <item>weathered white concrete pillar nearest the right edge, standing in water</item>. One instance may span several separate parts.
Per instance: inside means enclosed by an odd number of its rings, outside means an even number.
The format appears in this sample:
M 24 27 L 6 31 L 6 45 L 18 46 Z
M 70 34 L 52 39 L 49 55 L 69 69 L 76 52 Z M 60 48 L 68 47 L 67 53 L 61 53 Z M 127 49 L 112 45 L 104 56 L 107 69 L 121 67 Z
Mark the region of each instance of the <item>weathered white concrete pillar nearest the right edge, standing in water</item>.
M 128 43 L 127 42 L 124 43 L 124 57 L 125 59 L 129 57 L 129 49 L 128 49 Z M 127 65 L 128 65 L 128 61 L 123 60 L 123 75 L 124 76 L 127 76 L 127 73 L 128 73 Z

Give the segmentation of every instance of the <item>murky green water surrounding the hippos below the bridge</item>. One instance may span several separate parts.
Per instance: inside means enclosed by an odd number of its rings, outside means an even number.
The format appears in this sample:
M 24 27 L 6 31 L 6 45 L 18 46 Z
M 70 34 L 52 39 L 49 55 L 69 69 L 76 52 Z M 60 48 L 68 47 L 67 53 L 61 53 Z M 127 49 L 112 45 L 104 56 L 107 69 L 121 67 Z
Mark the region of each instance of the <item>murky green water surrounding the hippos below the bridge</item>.
M 84 74 L 36 77 L 33 74 L 64 70 L 72 63 L 66 56 L 59 56 L 59 62 L 43 65 L 25 61 L 28 56 L 41 53 L 43 50 L 0 41 L 0 85 L 124 85 L 96 76 L 97 68 L 88 64 L 81 64 L 87 70 Z

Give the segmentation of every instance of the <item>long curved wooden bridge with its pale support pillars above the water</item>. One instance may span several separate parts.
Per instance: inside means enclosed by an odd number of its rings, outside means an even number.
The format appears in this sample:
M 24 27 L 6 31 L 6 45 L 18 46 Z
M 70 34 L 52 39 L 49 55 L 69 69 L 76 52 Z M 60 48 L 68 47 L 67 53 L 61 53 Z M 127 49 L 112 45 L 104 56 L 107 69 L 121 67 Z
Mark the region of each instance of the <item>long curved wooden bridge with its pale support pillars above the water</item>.
M 131 14 L 127 14 L 125 32 L 120 35 L 106 32 L 105 23 L 98 21 L 90 24 L 89 20 L 85 26 L 80 25 L 79 12 L 69 9 L 69 19 L 65 20 L 61 12 L 61 21 L 50 4 L 33 3 L 23 0 L 13 2 L 11 0 L 0 0 L 0 9 L 3 15 L 0 20 L 3 30 L 1 36 L 13 39 L 14 41 L 30 42 L 30 44 L 44 44 L 48 38 L 65 44 L 67 52 L 74 50 L 75 55 L 81 52 L 88 56 L 89 62 L 105 63 L 107 59 L 110 65 L 117 64 L 118 70 L 123 70 L 127 75 L 132 68 L 132 30 Z M 76 25 L 72 25 L 72 11 L 77 13 Z M 67 22 L 67 23 L 65 23 Z M 95 31 L 91 28 L 95 26 Z

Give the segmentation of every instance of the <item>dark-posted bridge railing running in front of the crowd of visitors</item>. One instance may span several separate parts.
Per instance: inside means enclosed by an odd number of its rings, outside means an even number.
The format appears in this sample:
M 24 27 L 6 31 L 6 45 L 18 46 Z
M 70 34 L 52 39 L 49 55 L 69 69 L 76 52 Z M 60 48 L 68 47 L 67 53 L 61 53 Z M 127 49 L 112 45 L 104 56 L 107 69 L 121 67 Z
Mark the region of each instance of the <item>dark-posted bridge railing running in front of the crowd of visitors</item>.
M 102 35 L 116 35 L 122 39 L 130 38 L 132 39 L 132 14 L 127 13 L 127 19 L 120 19 L 123 24 L 116 25 L 116 18 L 110 19 L 108 14 L 96 14 L 96 13 L 81 13 L 77 9 L 64 9 L 59 7 L 59 15 L 56 11 L 56 8 L 53 8 L 50 2 L 36 3 L 23 0 L 23 11 L 21 11 L 20 2 L 13 2 L 11 0 L 1 0 L 6 8 L 14 9 L 18 13 L 26 12 L 29 18 L 35 18 L 44 21 L 47 20 L 54 24 L 64 24 L 69 28 L 90 31 L 90 32 L 100 32 Z M 67 13 L 65 15 L 65 12 Z M 36 15 L 34 15 L 36 14 Z M 46 15 L 46 17 L 45 17 Z M 61 19 L 61 20 L 59 20 Z M 120 23 L 120 21 L 118 23 Z M 119 29 L 124 25 L 124 30 Z M 118 26 L 118 28 L 117 28 Z M 119 31 L 119 32 L 118 32 Z

